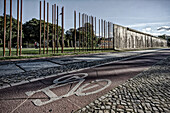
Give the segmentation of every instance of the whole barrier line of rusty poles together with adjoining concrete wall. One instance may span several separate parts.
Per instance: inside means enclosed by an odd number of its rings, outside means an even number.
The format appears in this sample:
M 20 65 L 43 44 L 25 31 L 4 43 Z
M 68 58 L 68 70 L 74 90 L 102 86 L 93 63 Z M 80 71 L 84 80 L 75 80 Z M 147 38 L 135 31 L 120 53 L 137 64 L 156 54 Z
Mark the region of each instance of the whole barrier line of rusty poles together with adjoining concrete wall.
M 19 11 L 19 2 L 20 11 Z M 77 12 L 74 11 L 74 29 L 71 31 L 70 37 L 72 40 L 66 41 L 66 34 L 64 34 L 64 7 L 59 13 L 59 7 L 53 4 L 52 10 L 52 26 L 49 24 L 49 3 L 40 1 L 39 9 L 39 40 L 37 41 L 37 48 L 31 52 L 25 52 L 22 49 L 22 0 L 17 0 L 17 44 L 13 53 L 17 56 L 23 54 L 56 54 L 64 52 L 80 52 L 80 51 L 96 51 L 96 50 L 110 50 L 110 49 L 143 49 L 153 47 L 166 47 L 167 41 L 150 34 L 142 33 L 127 27 L 113 24 L 103 19 L 97 19 L 94 16 L 78 13 L 78 26 L 76 28 Z M 42 7 L 43 6 L 43 7 Z M 47 8 L 45 8 L 47 7 Z M 43 8 L 43 20 L 41 10 Z M 47 9 L 47 14 L 45 14 Z M 20 22 L 19 22 L 20 13 Z M 61 14 L 61 32 L 59 26 L 59 14 Z M 20 26 L 19 26 L 20 25 Z M 12 54 L 11 39 L 12 39 L 12 0 L 10 0 L 10 38 L 8 40 L 8 53 Z M 49 30 L 51 29 L 51 30 Z M 4 39 L 3 39 L 3 56 L 6 54 L 6 0 L 4 0 Z M 98 36 L 96 35 L 98 31 Z M 50 34 L 51 37 L 49 36 Z M 51 45 L 49 44 L 51 41 Z M 69 42 L 66 48 L 66 42 Z M 71 42 L 71 43 L 70 43 Z M 68 50 L 67 50 L 68 49 Z M 42 52 L 43 51 L 43 52 Z

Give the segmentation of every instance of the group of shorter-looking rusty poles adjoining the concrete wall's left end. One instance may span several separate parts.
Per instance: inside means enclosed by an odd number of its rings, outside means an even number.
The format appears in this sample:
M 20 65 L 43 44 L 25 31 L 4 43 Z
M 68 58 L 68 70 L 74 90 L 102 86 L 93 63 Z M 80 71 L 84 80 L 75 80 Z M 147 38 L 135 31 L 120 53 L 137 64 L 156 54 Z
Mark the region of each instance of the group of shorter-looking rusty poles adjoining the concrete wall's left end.
M 89 17 L 89 21 L 88 21 L 88 17 Z M 82 20 L 82 25 L 81 25 L 81 20 Z M 83 50 L 97 50 L 97 44 L 98 44 L 98 40 L 96 37 L 96 17 L 94 18 L 93 16 L 88 16 L 86 14 L 82 14 L 82 18 L 81 18 L 81 14 L 79 13 L 79 52 L 81 50 L 81 48 Z M 110 32 L 111 31 L 111 27 L 113 27 L 113 24 L 111 22 L 106 22 L 103 19 L 99 19 L 98 21 L 99 23 L 99 38 L 102 37 L 102 41 L 103 42 L 103 49 L 111 49 L 110 46 L 110 42 L 111 42 L 111 35 Z M 87 31 L 89 30 L 89 31 Z M 82 34 L 81 34 L 82 33 Z M 90 38 L 88 38 L 88 33 L 91 34 Z M 101 34 L 100 34 L 101 33 Z M 114 31 L 113 31 L 114 33 Z M 95 35 L 95 36 L 94 36 Z M 76 52 L 76 11 L 74 11 L 74 52 Z M 95 38 L 95 40 L 94 40 Z M 106 47 L 106 38 L 108 38 L 107 41 L 107 47 Z M 114 39 L 113 39 L 114 40 Z M 82 42 L 81 42 L 82 41 Z M 91 42 L 90 42 L 91 41 Z M 114 41 L 113 41 L 114 42 Z M 94 47 L 95 44 L 95 47 Z M 85 46 L 85 47 L 84 47 Z M 91 48 L 90 48 L 91 47 Z M 113 48 L 114 49 L 114 43 L 113 43 Z

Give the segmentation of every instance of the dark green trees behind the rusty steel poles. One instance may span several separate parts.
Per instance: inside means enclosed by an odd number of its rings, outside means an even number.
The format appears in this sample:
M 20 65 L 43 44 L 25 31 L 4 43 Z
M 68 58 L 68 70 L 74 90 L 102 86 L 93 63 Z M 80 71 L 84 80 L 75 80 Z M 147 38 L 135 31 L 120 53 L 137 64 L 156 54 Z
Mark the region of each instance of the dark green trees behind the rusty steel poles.
M 42 42 L 43 42 L 43 37 L 44 37 L 44 21 L 41 21 L 41 38 L 42 38 Z M 46 27 L 46 38 L 47 38 L 47 23 L 45 23 L 45 27 Z M 57 26 L 56 26 L 57 27 Z M 3 33 L 4 33 L 4 17 L 0 16 L 0 28 L 2 28 L 2 30 L 0 30 L 0 39 L 3 40 Z M 85 37 L 85 32 L 83 32 L 82 30 L 85 30 L 87 28 L 87 36 L 86 36 L 86 40 L 82 38 L 82 36 Z M 59 46 L 62 44 L 62 38 L 61 38 L 61 33 L 62 33 L 62 29 L 61 26 L 58 26 L 59 29 Z M 27 21 L 26 23 L 23 24 L 22 27 L 23 30 L 23 43 L 34 43 L 34 42 L 39 42 L 40 40 L 40 20 L 36 19 L 36 18 L 32 18 L 31 20 Z M 53 39 L 53 26 L 51 23 L 49 23 L 49 43 L 52 46 L 52 39 Z M 57 29 L 56 29 L 56 33 L 57 33 Z M 76 29 L 76 41 L 79 41 L 79 36 L 80 36 L 80 45 L 82 46 L 82 42 L 87 42 L 89 46 L 91 46 L 91 35 L 93 33 L 93 37 L 94 40 L 96 39 L 95 35 L 94 35 L 94 31 L 92 32 L 92 25 L 90 23 L 86 23 L 84 24 L 84 27 L 80 27 Z M 9 41 L 9 34 L 10 34 L 10 16 L 7 15 L 7 22 L 6 22 L 6 40 Z M 80 35 L 79 35 L 80 34 Z M 64 34 L 64 46 L 66 47 L 73 47 L 74 46 L 74 29 L 71 28 L 69 30 L 67 30 Z M 57 36 L 56 36 L 57 38 Z M 15 46 L 16 45 L 16 41 L 17 41 L 17 20 L 15 18 L 12 18 L 12 45 Z

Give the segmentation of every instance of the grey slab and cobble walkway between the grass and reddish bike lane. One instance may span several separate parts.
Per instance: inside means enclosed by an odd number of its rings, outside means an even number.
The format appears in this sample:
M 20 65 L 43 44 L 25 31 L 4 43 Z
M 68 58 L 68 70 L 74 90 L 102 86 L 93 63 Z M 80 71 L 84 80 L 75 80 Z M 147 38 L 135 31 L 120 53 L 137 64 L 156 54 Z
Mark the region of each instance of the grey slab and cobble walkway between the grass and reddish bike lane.
M 44 79 L 52 74 L 88 68 L 155 50 L 100 53 L 21 61 L 0 61 L 0 89 Z

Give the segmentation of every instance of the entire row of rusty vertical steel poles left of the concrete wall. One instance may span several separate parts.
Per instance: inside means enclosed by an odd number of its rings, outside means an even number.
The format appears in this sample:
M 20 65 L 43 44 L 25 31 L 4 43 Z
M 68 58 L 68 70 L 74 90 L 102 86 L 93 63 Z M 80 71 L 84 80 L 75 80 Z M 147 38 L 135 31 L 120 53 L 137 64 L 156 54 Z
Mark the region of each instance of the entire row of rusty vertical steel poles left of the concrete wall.
M 39 53 L 41 54 L 41 1 L 40 1 L 40 41 L 39 41 Z M 49 3 L 47 3 L 47 34 L 46 34 L 46 24 L 45 24 L 45 0 L 44 0 L 44 40 L 43 40 L 43 54 L 45 54 L 45 48 L 46 48 L 46 37 L 47 37 L 47 49 L 46 49 L 46 53 L 48 54 L 48 48 L 49 48 Z M 61 19 L 61 25 L 62 25 L 62 50 L 61 52 L 64 52 L 64 7 L 62 7 L 62 19 Z M 57 53 L 58 53 L 58 44 L 59 44 L 59 29 L 58 29 L 58 6 L 57 6 L 57 26 L 56 26 L 56 4 L 52 5 L 52 26 L 53 26 L 53 31 L 52 31 L 52 53 L 56 52 L 56 47 L 57 47 Z M 79 13 L 79 28 L 80 28 L 80 24 L 81 24 L 81 14 Z M 74 51 L 76 52 L 76 11 L 74 12 L 74 30 L 75 30 L 75 45 L 74 45 Z M 95 22 L 94 22 L 95 21 Z M 101 24 L 100 24 L 101 23 Z M 19 56 L 19 54 L 22 54 L 22 0 L 21 0 L 21 7 L 20 7 L 20 34 L 19 34 L 19 0 L 17 0 L 17 56 Z M 57 30 L 56 30 L 57 27 Z M 90 28 L 91 27 L 91 28 Z M 81 38 L 82 38 L 82 48 L 83 50 L 93 50 L 94 49 L 94 41 L 95 41 L 95 49 L 96 49 L 96 43 L 98 42 L 98 40 L 94 40 L 94 28 L 95 27 L 95 36 L 96 36 L 96 17 L 94 18 L 93 16 L 88 16 L 86 14 L 82 14 L 82 36 L 79 33 L 79 51 L 81 48 Z M 100 29 L 101 27 L 101 29 Z M 106 49 L 105 47 L 105 36 L 106 36 L 106 21 L 104 20 L 104 28 L 103 28 L 103 19 L 99 19 L 99 38 L 100 38 L 100 31 L 101 31 L 101 37 L 103 38 L 103 30 L 104 30 L 104 49 Z M 87 31 L 89 30 L 89 31 Z M 57 31 L 57 33 L 56 33 Z M 88 38 L 88 32 L 91 32 L 91 45 L 89 45 L 90 39 Z M 56 40 L 56 34 L 57 34 L 57 40 Z M 20 36 L 19 36 L 20 35 Z M 108 23 L 108 38 L 109 38 L 109 23 Z M 10 0 L 10 43 L 9 43 L 9 56 L 11 56 L 11 39 L 12 39 L 12 0 Z M 6 0 L 4 0 L 4 46 L 3 46 L 3 56 L 5 56 L 5 44 L 6 44 Z M 109 43 L 109 41 L 108 41 Z M 91 48 L 90 48 L 91 46 Z M 86 47 L 86 49 L 85 49 Z M 109 48 L 109 44 L 108 44 L 108 48 Z M 19 51 L 20 49 L 20 51 Z

